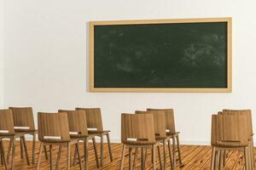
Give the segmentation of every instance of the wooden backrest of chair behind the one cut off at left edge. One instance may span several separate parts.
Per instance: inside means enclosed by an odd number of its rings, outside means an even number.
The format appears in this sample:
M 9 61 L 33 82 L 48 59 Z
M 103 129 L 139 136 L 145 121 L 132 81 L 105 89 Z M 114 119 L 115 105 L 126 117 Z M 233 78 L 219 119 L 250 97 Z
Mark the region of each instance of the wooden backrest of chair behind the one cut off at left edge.
M 13 111 L 15 127 L 28 127 L 28 130 L 35 130 L 32 107 L 9 107 Z M 25 129 L 25 128 L 24 128 Z

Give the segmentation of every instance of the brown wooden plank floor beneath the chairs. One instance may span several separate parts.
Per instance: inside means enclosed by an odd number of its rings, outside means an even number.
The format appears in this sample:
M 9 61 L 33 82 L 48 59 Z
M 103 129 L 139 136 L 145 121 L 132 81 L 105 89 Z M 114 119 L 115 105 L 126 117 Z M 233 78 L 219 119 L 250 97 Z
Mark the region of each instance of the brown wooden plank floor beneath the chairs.
M 16 143 L 18 147 L 16 147 L 15 151 L 15 169 L 35 169 L 35 165 L 27 166 L 26 165 L 26 159 L 21 161 L 20 159 L 20 146 L 18 142 Z M 31 156 L 31 150 L 32 150 L 32 143 L 27 142 L 28 144 L 28 150 L 29 155 Z M 5 148 L 8 145 L 7 142 L 4 143 Z M 84 162 L 84 151 L 83 151 L 83 144 L 80 144 L 80 153 L 82 155 L 82 159 Z M 100 151 L 100 145 L 97 144 L 97 149 Z M 39 143 L 37 144 L 36 148 L 36 161 L 38 160 L 38 147 Z M 95 156 L 92 148 L 92 144 L 89 144 L 90 151 L 89 151 L 89 169 L 97 169 L 96 168 L 96 161 Z M 53 159 L 54 159 L 54 165 L 55 160 L 57 156 L 57 147 L 53 147 Z M 120 162 L 120 156 L 122 152 L 122 144 L 112 144 L 112 150 L 113 150 L 113 162 L 109 161 L 108 156 L 108 145 L 104 145 L 104 167 L 99 169 L 119 169 L 119 162 Z M 202 145 L 182 145 L 182 156 L 183 156 L 183 163 L 185 164 L 184 167 L 176 167 L 176 169 L 182 169 L 182 170 L 209 170 L 210 169 L 210 161 L 211 161 L 211 147 L 210 146 L 202 146 Z M 7 151 L 6 151 L 7 153 Z M 72 152 L 73 153 L 73 152 Z M 125 152 L 125 169 L 128 169 L 128 150 Z M 148 151 L 148 154 L 150 152 Z M 98 153 L 98 156 L 100 156 L 100 153 Z M 148 156 L 150 158 L 151 156 Z M 30 157 L 31 158 L 31 157 Z M 157 159 L 157 169 L 160 169 L 160 164 Z M 65 163 L 67 159 L 67 148 L 64 148 L 61 155 L 61 161 L 60 161 L 60 169 L 65 169 Z M 137 157 L 137 169 L 140 169 L 140 156 Z M 167 155 L 167 169 L 171 169 L 170 167 L 170 161 L 169 156 Z M 178 163 L 177 163 L 178 164 Z M 83 164 L 84 166 L 84 164 Z M 147 169 L 151 169 L 151 163 L 150 159 L 147 160 Z M 9 165 L 10 167 L 10 165 Z M 0 169 L 3 169 L 3 166 L 1 165 Z M 44 154 L 42 155 L 41 159 L 41 166 L 40 170 L 49 169 L 49 161 L 45 160 Z M 79 169 L 79 166 L 76 165 L 75 167 L 72 167 L 72 169 Z M 230 151 L 229 157 L 227 159 L 227 163 L 224 167 L 224 170 L 241 170 L 244 169 L 244 162 L 243 162 L 243 155 L 239 151 Z

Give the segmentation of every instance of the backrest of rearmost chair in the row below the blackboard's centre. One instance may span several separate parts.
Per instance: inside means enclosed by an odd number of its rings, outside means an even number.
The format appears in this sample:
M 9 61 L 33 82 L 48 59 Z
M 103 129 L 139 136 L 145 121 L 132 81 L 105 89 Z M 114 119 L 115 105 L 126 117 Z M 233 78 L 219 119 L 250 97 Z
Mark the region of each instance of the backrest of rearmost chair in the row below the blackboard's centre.
M 173 109 L 147 109 L 147 111 L 165 111 L 167 133 L 176 133 Z

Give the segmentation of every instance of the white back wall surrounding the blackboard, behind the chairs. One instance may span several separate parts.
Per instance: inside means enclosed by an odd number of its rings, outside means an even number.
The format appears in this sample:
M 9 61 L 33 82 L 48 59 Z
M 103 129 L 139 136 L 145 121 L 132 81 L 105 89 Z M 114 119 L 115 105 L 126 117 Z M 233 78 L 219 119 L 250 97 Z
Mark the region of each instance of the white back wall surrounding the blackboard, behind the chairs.
M 8 0 L 4 5 L 4 105 L 32 105 L 35 111 L 101 107 L 112 139 L 120 137 L 121 112 L 174 108 L 181 139 L 205 143 L 210 140 L 213 112 L 222 108 L 256 111 L 255 6 L 255 0 Z M 89 20 L 222 16 L 233 17 L 233 93 L 86 91 Z

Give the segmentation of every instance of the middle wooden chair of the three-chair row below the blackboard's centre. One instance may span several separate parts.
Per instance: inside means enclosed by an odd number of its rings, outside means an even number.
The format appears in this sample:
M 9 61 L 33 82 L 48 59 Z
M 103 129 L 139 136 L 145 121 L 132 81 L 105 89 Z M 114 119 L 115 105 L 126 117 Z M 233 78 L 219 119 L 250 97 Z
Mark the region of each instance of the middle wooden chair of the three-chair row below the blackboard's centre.
M 166 142 L 168 142 L 168 146 L 169 146 L 169 155 L 170 155 L 170 162 L 172 167 L 173 163 L 172 163 L 172 151 L 171 151 L 172 149 L 171 149 L 170 138 L 166 136 L 166 123 L 163 123 L 163 122 L 166 122 L 165 112 L 164 111 L 135 111 L 135 114 L 153 114 L 155 139 L 156 141 L 163 144 L 164 166 L 162 166 L 162 163 L 161 163 L 160 145 L 157 147 L 158 154 L 159 154 L 159 161 L 160 161 L 160 169 L 166 169 Z M 135 152 L 135 156 L 137 156 L 137 150 Z M 147 156 L 147 150 L 146 150 L 146 156 Z M 136 160 L 136 157 L 135 157 L 135 160 Z M 145 157 L 145 161 L 146 160 L 147 159 Z M 172 167 L 172 169 L 174 169 L 174 167 Z

